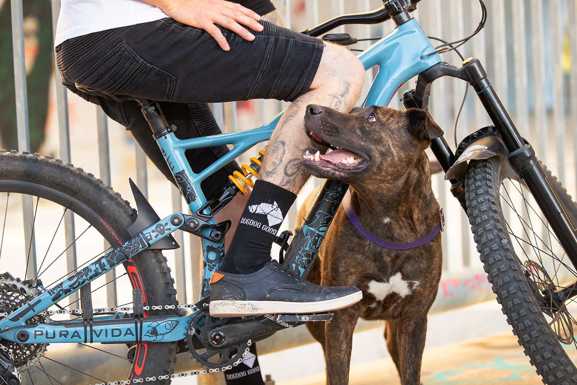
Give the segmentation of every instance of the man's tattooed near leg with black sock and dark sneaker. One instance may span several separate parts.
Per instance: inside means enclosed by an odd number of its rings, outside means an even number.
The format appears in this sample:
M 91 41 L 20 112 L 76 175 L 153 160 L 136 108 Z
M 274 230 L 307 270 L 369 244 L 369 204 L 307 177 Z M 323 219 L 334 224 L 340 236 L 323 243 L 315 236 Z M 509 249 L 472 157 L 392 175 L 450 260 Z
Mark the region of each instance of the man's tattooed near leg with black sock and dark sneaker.
M 211 279 L 211 314 L 329 311 L 362 298 L 353 287 L 323 287 L 303 282 L 271 262 L 271 246 L 296 193 L 310 175 L 301 163 L 306 150 L 324 151 L 309 139 L 304 117 L 309 104 L 349 112 L 361 92 L 364 68 L 350 51 L 329 44 L 306 94 L 280 119 L 264 156 L 241 222 L 219 271 Z M 271 289 L 272 288 L 272 289 Z

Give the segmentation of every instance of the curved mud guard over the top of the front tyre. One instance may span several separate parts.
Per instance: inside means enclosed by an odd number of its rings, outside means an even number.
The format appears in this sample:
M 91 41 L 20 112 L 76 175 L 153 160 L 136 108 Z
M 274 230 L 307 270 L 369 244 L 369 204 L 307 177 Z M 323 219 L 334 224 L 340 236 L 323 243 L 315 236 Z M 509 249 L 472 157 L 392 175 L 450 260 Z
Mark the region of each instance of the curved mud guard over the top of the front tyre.
M 464 149 L 456 162 L 447 170 L 445 180 L 465 179 L 467 174 L 467 164 L 473 159 L 489 159 L 497 156 L 501 162 L 501 180 L 511 178 L 520 180 L 519 175 L 509 165 L 509 151 L 505 147 L 503 139 L 498 135 L 487 135 L 480 137 Z

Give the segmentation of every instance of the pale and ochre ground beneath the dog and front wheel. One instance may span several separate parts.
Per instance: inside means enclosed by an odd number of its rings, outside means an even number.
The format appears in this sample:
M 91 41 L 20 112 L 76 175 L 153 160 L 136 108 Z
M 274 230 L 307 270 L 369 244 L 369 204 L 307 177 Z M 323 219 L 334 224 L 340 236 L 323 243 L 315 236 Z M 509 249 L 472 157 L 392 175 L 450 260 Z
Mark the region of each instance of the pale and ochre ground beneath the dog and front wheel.
M 577 351 L 569 347 L 572 358 Z M 276 385 L 325 384 L 319 343 L 265 354 L 263 376 Z M 575 360 L 573 360 L 575 362 Z M 496 301 L 429 316 L 423 384 L 542 384 Z M 354 335 L 351 385 L 399 384 L 381 328 Z

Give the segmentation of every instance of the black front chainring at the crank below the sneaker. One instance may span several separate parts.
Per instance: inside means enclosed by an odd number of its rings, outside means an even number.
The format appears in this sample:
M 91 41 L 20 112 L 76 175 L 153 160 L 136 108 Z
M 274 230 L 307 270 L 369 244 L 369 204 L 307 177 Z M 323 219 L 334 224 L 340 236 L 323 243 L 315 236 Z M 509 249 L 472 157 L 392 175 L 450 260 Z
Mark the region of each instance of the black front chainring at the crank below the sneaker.
M 232 346 L 215 349 L 208 346 L 208 334 L 213 327 L 233 322 L 235 318 L 216 318 L 208 313 L 208 309 L 200 313 L 190 321 L 186 332 L 186 343 L 192 358 L 201 367 L 213 369 L 211 371 L 224 371 L 237 366 L 249 352 L 250 341 L 243 341 Z

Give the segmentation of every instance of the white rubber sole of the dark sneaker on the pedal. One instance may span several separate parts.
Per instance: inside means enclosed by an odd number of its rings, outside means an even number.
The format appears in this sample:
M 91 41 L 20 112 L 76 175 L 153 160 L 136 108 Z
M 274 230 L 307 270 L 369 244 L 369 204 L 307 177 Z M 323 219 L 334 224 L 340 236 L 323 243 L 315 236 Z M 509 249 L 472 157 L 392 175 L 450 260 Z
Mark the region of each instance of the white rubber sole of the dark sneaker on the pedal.
M 362 300 L 362 291 L 348 296 L 319 302 L 282 301 L 211 301 L 209 312 L 213 317 L 254 316 L 259 314 L 310 314 L 346 308 Z

